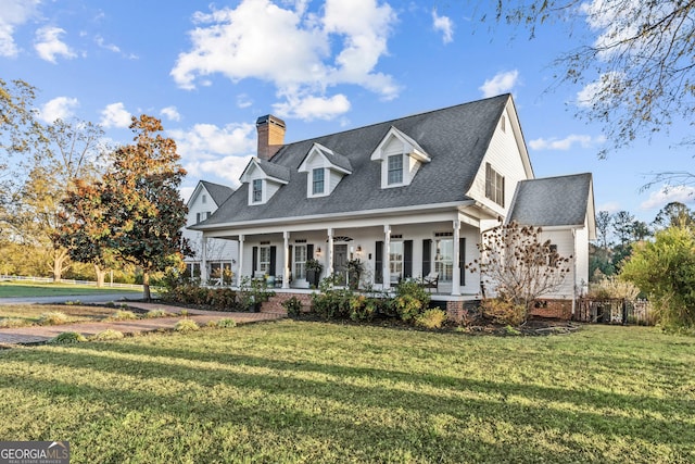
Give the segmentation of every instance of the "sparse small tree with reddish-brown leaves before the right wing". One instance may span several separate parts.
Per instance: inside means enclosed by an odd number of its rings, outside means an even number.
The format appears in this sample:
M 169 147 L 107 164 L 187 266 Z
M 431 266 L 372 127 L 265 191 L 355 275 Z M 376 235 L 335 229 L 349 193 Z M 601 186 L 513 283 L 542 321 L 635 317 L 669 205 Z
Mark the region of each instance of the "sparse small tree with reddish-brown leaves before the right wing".
M 572 256 L 561 256 L 549 240 L 541 241 L 542 229 L 516 223 L 485 231 L 478 243 L 480 258 L 466 267 L 480 272 L 488 292 L 523 311 L 541 296 L 557 290 L 570 272 Z

